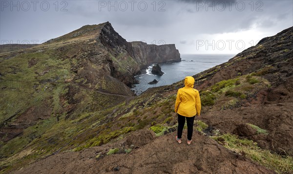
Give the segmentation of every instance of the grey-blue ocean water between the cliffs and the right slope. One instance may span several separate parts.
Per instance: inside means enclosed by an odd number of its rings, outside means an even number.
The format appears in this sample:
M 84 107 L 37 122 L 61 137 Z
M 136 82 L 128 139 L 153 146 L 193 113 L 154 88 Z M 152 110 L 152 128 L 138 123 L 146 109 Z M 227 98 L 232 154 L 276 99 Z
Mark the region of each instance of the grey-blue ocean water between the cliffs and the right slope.
M 131 88 L 135 94 L 140 95 L 148 88 L 170 85 L 177 81 L 184 79 L 186 76 L 193 76 L 200 72 L 203 72 L 209 68 L 212 68 L 221 63 L 227 62 L 235 55 L 181 55 L 181 62 L 175 63 L 162 63 L 161 68 L 165 73 L 163 76 L 153 75 L 151 73 L 152 64 L 148 66 L 146 70 L 142 70 L 142 74 L 135 78 L 139 80 L 139 84 L 135 84 L 134 88 Z M 148 82 L 156 79 L 159 81 L 157 84 L 147 84 Z

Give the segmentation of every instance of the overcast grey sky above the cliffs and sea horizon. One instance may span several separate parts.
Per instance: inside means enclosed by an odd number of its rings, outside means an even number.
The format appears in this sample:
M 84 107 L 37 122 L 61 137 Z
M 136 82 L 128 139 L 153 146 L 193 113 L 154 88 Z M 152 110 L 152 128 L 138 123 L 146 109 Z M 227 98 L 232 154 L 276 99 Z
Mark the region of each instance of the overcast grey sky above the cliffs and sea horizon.
M 109 21 L 127 41 L 237 54 L 293 26 L 293 0 L 0 0 L 0 41 L 42 43 Z

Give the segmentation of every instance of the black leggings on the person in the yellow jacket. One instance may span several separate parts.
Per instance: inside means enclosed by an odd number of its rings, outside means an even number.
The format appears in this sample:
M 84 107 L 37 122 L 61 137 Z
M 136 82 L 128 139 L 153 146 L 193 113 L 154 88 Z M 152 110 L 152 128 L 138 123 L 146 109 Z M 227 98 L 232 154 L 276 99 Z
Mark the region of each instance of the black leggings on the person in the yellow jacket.
M 191 140 L 192 138 L 192 133 L 193 133 L 193 122 L 194 122 L 194 117 L 187 117 L 187 116 L 181 116 L 180 114 L 178 114 L 178 129 L 177 129 L 177 137 L 181 138 L 182 136 L 182 131 L 184 128 L 184 124 L 185 124 L 185 118 L 187 121 L 187 138 L 188 140 Z

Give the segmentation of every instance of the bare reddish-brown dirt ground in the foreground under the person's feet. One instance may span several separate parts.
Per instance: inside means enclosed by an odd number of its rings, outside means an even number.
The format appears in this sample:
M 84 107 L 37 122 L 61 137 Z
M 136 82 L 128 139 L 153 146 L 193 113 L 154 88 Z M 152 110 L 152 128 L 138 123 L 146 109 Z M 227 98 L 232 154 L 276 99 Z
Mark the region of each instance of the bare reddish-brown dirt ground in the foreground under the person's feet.
M 142 130 L 111 144 L 52 155 L 14 174 L 274 174 L 198 132 L 194 133 L 190 146 L 184 137 L 183 143 L 178 144 L 175 133 L 157 138 L 152 134 Z M 105 154 L 110 148 L 123 150 L 133 142 L 136 149 L 129 154 L 96 159 L 97 154 Z

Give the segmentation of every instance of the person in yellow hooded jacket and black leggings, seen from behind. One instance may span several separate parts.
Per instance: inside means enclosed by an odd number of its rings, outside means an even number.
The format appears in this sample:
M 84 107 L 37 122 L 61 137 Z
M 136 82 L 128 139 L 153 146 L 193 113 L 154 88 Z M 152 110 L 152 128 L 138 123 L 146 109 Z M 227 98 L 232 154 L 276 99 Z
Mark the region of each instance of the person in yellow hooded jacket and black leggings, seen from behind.
M 194 78 L 191 76 L 185 77 L 185 87 L 180 88 L 177 92 L 175 102 L 175 113 L 178 115 L 178 128 L 176 140 L 180 144 L 185 118 L 187 121 L 187 144 L 192 141 L 194 117 L 200 116 L 201 102 L 199 92 L 193 89 Z

